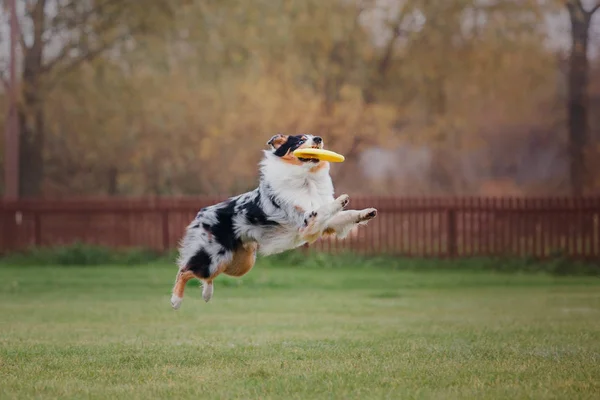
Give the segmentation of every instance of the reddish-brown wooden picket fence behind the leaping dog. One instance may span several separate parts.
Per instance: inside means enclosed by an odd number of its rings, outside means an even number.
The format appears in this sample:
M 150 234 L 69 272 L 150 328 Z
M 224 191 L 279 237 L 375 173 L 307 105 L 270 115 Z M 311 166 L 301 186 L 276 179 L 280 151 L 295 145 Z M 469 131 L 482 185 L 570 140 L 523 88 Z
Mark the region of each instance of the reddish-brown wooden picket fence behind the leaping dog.
M 75 241 L 118 248 L 175 247 L 197 211 L 223 198 L 0 201 L 0 252 Z M 424 257 L 600 258 L 598 198 L 351 197 L 379 215 L 320 251 Z

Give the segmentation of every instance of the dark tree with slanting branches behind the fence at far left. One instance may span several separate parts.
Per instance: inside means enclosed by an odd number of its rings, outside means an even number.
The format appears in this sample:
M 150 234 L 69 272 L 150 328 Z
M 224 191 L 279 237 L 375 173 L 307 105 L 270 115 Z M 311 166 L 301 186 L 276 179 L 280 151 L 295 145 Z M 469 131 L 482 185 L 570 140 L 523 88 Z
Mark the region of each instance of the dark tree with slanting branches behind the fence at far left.
M 66 74 L 136 34 L 163 26 L 167 0 L 28 0 L 22 19 L 20 125 L 21 196 L 41 193 L 48 92 Z M 122 49 L 121 49 L 122 50 Z

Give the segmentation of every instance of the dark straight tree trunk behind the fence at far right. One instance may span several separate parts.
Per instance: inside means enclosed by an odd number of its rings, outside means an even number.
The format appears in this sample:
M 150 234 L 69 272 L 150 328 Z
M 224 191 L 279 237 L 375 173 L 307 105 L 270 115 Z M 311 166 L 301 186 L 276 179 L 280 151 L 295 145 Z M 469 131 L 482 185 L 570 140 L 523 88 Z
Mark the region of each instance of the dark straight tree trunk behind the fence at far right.
M 588 132 L 589 62 L 587 49 L 592 17 L 598 9 L 597 2 L 586 10 L 581 0 L 566 0 L 571 20 L 571 54 L 568 78 L 568 130 L 571 193 L 581 196 L 586 185 L 585 145 Z

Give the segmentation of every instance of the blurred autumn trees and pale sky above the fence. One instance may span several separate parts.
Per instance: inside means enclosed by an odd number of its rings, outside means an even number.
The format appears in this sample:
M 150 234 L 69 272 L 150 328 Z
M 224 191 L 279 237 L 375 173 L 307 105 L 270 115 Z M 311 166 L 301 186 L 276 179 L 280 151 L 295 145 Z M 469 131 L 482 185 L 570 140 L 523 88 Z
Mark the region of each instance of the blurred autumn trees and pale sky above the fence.
M 238 193 L 284 132 L 346 155 L 338 192 L 599 193 L 599 6 L 4 0 L 0 190 Z

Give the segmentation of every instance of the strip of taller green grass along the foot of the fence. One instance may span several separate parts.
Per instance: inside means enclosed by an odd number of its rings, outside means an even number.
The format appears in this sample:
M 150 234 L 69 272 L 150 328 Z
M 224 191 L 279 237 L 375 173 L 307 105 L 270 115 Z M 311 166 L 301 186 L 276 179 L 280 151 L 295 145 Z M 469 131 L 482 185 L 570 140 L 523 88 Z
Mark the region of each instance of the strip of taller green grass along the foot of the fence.
M 84 266 L 133 266 L 148 263 L 172 263 L 177 257 L 175 251 L 161 253 L 148 249 L 121 249 L 73 243 L 58 247 L 30 248 L 18 253 L 0 255 L 0 268 L 3 266 L 54 267 L 56 265 Z M 546 272 L 552 275 L 600 276 L 598 260 L 571 260 L 556 254 L 544 261 L 534 257 L 465 257 L 458 259 L 400 258 L 391 255 L 378 257 L 362 256 L 353 253 L 336 255 L 302 250 L 289 251 L 261 260 L 262 265 L 278 267 L 295 265 L 302 267 L 343 268 L 384 267 L 393 270 L 470 270 L 500 272 Z

